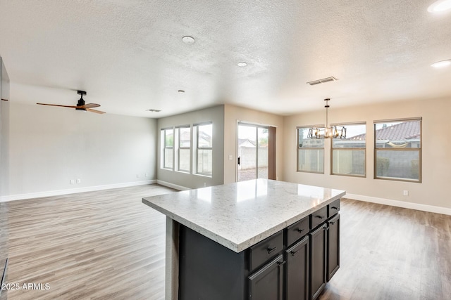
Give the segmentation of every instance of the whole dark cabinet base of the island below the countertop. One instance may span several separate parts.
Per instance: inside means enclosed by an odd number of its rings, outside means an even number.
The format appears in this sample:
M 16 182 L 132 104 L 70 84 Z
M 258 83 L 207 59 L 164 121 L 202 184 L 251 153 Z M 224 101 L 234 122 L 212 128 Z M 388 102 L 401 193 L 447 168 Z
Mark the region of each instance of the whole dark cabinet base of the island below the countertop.
M 340 266 L 340 200 L 240 253 L 180 225 L 179 299 L 317 299 Z

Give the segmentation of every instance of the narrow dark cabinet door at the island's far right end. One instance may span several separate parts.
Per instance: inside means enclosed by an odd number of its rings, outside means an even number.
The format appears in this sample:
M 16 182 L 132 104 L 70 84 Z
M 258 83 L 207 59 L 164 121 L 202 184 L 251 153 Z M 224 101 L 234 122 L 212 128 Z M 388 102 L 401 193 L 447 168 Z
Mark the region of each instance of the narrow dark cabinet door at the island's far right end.
M 328 221 L 327 257 L 327 281 L 329 281 L 340 268 L 340 214 Z

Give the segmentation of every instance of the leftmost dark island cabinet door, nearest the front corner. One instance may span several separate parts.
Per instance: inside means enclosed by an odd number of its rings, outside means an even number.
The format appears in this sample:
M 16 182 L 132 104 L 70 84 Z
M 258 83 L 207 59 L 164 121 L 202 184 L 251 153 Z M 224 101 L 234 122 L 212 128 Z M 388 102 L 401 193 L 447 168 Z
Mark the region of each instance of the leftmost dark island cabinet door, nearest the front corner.
M 285 261 L 279 255 L 249 276 L 249 299 L 283 300 L 283 268 Z

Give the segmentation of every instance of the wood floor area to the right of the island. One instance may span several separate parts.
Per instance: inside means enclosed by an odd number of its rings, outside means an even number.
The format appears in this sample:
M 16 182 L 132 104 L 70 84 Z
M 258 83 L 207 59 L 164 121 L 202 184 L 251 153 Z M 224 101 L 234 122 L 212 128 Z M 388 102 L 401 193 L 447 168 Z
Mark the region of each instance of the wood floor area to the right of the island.
M 451 216 L 342 200 L 340 269 L 319 299 L 451 299 Z

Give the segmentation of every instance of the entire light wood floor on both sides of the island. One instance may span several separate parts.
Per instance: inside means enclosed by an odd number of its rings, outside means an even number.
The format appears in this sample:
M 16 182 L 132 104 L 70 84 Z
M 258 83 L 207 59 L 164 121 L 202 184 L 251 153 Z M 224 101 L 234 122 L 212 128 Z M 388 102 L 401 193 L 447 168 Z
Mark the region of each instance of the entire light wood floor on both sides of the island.
M 8 282 L 50 284 L 8 300 L 163 299 L 165 217 L 141 198 L 172 192 L 145 185 L 0 203 Z M 450 299 L 451 216 L 353 200 L 340 214 L 341 266 L 319 299 Z

